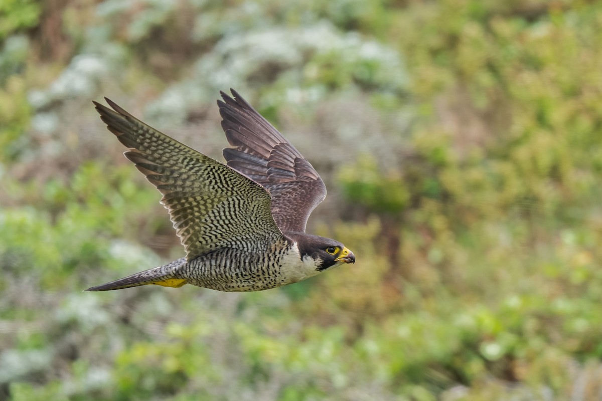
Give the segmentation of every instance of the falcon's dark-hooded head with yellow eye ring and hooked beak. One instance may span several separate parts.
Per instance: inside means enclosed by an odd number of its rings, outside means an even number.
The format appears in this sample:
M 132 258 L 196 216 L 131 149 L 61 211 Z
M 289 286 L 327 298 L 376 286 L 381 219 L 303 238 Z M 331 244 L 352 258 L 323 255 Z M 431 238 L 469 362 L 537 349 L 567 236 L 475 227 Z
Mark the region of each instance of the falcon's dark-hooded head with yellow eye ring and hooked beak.
M 353 252 L 337 240 L 304 233 L 295 235 L 293 239 L 297 242 L 301 259 L 311 261 L 318 272 L 343 263 L 355 263 Z

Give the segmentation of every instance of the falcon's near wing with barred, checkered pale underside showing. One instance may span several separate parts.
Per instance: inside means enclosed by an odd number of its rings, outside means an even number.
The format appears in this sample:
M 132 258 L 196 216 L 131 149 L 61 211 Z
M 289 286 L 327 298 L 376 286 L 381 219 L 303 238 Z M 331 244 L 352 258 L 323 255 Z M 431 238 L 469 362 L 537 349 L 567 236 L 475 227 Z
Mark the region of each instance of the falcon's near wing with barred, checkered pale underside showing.
M 282 233 L 270 194 L 258 183 L 144 124 L 111 100 L 94 102 L 108 130 L 130 150 L 134 162 L 163 194 L 187 261 L 224 247 L 272 242 Z

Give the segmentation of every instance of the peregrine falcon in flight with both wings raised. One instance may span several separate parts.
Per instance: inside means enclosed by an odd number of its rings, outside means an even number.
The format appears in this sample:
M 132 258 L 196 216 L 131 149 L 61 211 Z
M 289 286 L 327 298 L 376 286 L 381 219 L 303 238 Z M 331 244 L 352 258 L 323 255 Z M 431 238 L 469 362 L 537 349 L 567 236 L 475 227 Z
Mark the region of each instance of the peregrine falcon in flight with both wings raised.
M 186 256 L 87 291 L 158 284 L 259 291 L 296 283 L 355 256 L 334 239 L 305 233 L 326 197 L 311 164 L 236 91 L 217 101 L 232 147 L 220 163 L 144 124 L 111 100 L 94 102 L 125 157 L 163 194 Z

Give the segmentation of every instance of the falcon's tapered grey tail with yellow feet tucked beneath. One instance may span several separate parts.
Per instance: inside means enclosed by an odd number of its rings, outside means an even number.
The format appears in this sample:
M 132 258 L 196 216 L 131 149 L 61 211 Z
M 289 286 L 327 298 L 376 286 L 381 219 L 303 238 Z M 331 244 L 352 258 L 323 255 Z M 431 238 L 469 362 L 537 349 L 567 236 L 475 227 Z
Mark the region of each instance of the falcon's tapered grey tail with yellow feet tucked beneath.
M 120 278 L 119 280 L 111 281 L 110 283 L 90 287 L 86 291 L 119 290 L 128 287 L 146 286 L 146 284 L 157 284 L 158 286 L 175 288 L 182 287 L 187 281 L 185 278 L 176 277 L 175 272 L 184 263 L 184 258 L 178 259 L 169 263 L 169 265 L 148 269 L 129 275 L 128 277 Z

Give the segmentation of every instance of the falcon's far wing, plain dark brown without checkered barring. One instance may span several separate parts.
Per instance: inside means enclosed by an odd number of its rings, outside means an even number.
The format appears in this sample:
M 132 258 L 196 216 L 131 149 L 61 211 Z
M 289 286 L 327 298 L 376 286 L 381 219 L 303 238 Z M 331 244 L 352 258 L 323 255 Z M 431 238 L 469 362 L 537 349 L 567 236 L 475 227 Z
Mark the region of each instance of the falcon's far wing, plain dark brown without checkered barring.
M 264 186 L 272 195 L 272 215 L 283 231 L 305 232 L 312 210 L 326 197 L 326 186 L 311 164 L 272 124 L 236 91 L 220 92 L 222 128 L 234 148 L 225 148 L 228 165 Z

